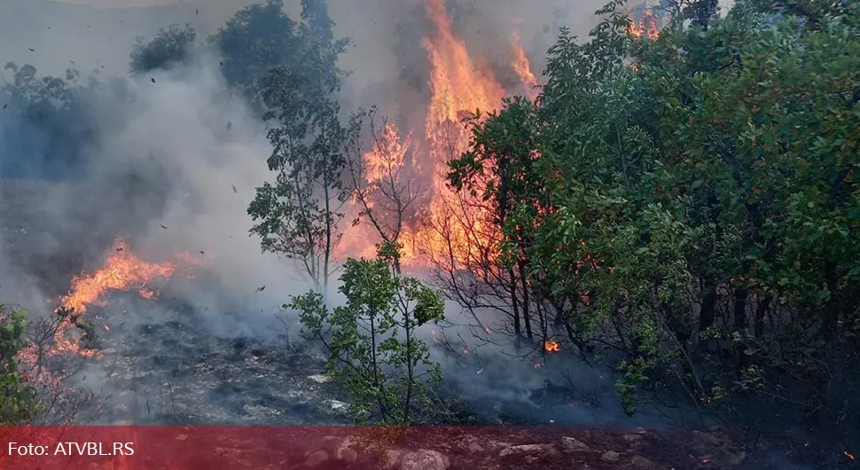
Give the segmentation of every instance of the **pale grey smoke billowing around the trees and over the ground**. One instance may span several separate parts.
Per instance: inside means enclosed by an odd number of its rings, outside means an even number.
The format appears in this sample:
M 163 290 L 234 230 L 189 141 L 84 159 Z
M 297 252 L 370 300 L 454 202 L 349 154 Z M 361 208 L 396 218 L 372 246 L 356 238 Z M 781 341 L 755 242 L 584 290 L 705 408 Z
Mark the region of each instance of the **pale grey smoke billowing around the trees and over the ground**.
M 40 73 L 62 74 L 66 67 L 77 67 L 86 75 L 92 68 L 101 81 L 86 95 L 77 116 L 91 133 L 77 149 L 85 155 L 84 179 L 42 184 L 29 196 L 9 188 L 0 195 L 5 230 L 0 233 L 0 294 L 43 311 L 46 299 L 65 293 L 71 276 L 98 268 L 104 250 L 118 236 L 128 237 L 145 260 L 171 260 L 178 252 L 205 258 L 205 270 L 213 278 L 208 288 L 192 280 L 176 281 L 170 288 L 216 320 L 209 322 L 216 333 L 263 333 L 278 306 L 307 289 L 293 264 L 262 254 L 259 240 L 248 236 L 252 222 L 246 208 L 254 188 L 272 177 L 266 165 L 271 148 L 264 123 L 228 89 L 217 58 L 199 56 L 181 69 L 136 79 L 126 74 L 137 35 L 152 37 L 159 27 L 190 22 L 205 37 L 249 3 L 99 10 L 15 0 L 0 7 L 4 57 L 34 63 Z M 574 8 L 563 0 L 458 0 L 450 1 L 449 9 L 473 57 L 504 68 L 516 26 L 539 70 L 557 28 L 567 25 L 584 34 L 602 3 L 589 0 L 588 6 L 580 2 Z M 292 18 L 298 17 L 298 7 L 297 0 L 288 3 Z M 330 10 L 336 35 L 354 43 L 341 63 L 352 72 L 342 91 L 343 107 L 379 104 L 384 114 L 405 117 L 421 132 L 428 93 L 420 42 L 429 27 L 423 3 L 379 0 L 356 9 L 352 0 L 335 0 Z M 123 80 L 111 82 L 111 76 Z M 15 123 L 14 118 L 3 121 L 4 126 Z M 51 145 L 37 134 L 27 140 L 33 149 Z M 0 142 L 0 148 L 7 144 Z M 450 317 L 457 324 L 469 320 L 455 308 Z M 511 359 L 504 356 L 507 346 L 475 349 L 465 327 L 450 332 L 467 338 L 463 347 L 471 354 L 438 357 L 451 372 L 453 387 L 481 403 L 534 403 L 528 389 L 542 387 L 552 364 Z M 429 329 L 424 333 L 432 341 Z M 536 370 L 536 362 L 543 370 Z M 598 373 L 584 367 L 566 372 L 576 382 L 598 381 Z M 579 413 L 574 419 L 620 416 L 616 403 L 602 409 L 606 411 Z

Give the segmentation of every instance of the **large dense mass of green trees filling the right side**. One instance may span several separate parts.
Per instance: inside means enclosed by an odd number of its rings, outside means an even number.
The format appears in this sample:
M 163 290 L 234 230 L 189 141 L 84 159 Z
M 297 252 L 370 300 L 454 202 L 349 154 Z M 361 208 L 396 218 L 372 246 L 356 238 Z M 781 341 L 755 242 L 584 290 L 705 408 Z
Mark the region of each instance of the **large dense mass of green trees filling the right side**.
M 648 390 L 856 425 L 856 4 L 688 3 L 655 41 L 622 4 L 562 31 L 536 106 L 478 124 L 450 184 L 504 215 L 536 321 L 613 358 L 630 413 Z

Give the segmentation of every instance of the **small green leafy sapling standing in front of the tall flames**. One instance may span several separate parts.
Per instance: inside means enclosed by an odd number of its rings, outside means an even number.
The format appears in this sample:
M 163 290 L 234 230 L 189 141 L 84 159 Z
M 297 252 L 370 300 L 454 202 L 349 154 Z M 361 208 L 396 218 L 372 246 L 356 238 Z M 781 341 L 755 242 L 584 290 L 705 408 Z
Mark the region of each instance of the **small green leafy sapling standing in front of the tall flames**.
M 392 261 L 348 260 L 340 277 L 343 306 L 328 309 L 311 292 L 285 308 L 298 310 L 309 337 L 328 349 L 326 370 L 346 383 L 360 422 L 404 426 L 434 406 L 431 392 L 441 371 L 416 333 L 441 321 L 444 305 L 418 279 L 397 274 Z

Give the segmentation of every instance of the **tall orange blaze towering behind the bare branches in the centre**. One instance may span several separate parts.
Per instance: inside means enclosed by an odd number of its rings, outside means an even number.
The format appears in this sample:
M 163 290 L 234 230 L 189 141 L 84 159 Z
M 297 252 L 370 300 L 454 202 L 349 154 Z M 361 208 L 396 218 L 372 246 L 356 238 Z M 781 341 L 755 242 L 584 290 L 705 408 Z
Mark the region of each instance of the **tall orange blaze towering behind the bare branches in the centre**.
M 426 178 L 426 182 L 416 185 L 422 191 L 415 200 L 419 207 L 410 210 L 403 226 L 397 224 L 393 234 L 403 245 L 401 265 L 418 267 L 436 262 L 447 269 L 459 270 L 466 264 L 495 257 L 494 247 L 500 233 L 492 223 L 489 209 L 480 200 L 450 189 L 445 177 L 448 162 L 468 149 L 470 132 L 465 127 L 466 116 L 499 109 L 506 93 L 489 65 L 471 57 L 463 39 L 455 34 L 445 0 L 425 0 L 425 4 L 434 31 L 422 41 L 430 62 L 431 91 L 421 136 L 424 138 L 414 142 L 413 132 L 401 137 L 395 125 L 387 124 L 371 151 L 363 156 L 364 179 L 368 192 L 374 192 L 374 186 L 390 185 L 391 181 L 385 179 L 390 180 L 396 173 L 393 169 L 404 166 L 417 170 L 415 176 Z M 512 45 L 512 68 L 527 88 L 528 98 L 535 98 L 537 79 L 520 47 L 519 33 L 514 35 Z M 387 188 L 387 191 L 392 190 Z M 356 200 L 352 202 L 356 204 Z M 372 208 L 390 206 L 386 201 L 367 198 L 364 202 Z M 339 255 L 345 252 L 372 255 L 371 243 L 366 241 L 367 230 L 366 226 L 348 228 L 345 239 L 349 246 L 339 248 Z

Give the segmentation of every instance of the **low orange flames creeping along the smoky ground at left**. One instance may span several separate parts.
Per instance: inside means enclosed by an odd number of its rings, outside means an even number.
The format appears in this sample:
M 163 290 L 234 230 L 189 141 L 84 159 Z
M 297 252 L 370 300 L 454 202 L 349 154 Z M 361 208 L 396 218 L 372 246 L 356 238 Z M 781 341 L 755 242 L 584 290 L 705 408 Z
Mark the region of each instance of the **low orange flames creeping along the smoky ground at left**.
M 192 255 L 180 255 L 191 262 Z M 199 260 L 197 260 L 199 262 Z M 80 349 L 74 338 L 66 333 L 75 325 L 80 325 L 80 318 L 90 305 L 104 305 L 103 297 L 108 291 L 137 289 L 145 299 L 154 299 L 158 291 L 147 285 L 154 278 L 169 278 L 176 273 L 179 266 L 174 262 L 153 263 L 145 262 L 129 250 L 124 239 L 117 239 L 107 252 L 104 265 L 91 274 L 82 274 L 72 279 L 69 293 L 60 300 L 58 314 L 65 320 L 54 335 L 55 352 L 73 352 L 82 356 L 98 356 L 96 351 Z M 105 326 L 106 330 L 110 328 Z

